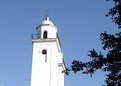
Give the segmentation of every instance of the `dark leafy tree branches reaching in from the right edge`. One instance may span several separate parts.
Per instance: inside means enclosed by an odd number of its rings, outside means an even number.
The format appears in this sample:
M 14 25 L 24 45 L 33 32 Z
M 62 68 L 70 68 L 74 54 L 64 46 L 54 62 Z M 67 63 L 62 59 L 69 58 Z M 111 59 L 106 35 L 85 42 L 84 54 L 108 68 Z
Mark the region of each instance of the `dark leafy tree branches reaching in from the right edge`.
M 121 0 L 106 0 L 113 1 L 112 7 L 106 16 L 111 16 L 113 22 L 121 29 Z M 91 58 L 88 62 L 73 60 L 70 68 L 67 69 L 74 73 L 81 71 L 82 74 L 94 74 L 97 70 L 106 72 L 105 85 L 103 86 L 121 86 L 121 32 L 108 34 L 106 31 L 101 33 L 100 40 L 103 50 L 107 53 L 104 55 L 97 53 L 95 49 L 89 51 L 88 56 Z

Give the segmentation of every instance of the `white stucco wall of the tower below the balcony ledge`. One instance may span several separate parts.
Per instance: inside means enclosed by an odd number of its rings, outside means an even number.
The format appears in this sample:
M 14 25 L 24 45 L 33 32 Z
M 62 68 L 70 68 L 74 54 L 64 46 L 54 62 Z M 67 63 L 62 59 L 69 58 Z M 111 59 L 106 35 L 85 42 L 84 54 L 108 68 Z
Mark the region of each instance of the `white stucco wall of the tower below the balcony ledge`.
M 43 49 L 47 50 L 47 57 L 42 54 Z M 33 43 L 31 86 L 63 86 L 63 67 L 58 66 L 63 62 L 62 56 L 56 41 Z

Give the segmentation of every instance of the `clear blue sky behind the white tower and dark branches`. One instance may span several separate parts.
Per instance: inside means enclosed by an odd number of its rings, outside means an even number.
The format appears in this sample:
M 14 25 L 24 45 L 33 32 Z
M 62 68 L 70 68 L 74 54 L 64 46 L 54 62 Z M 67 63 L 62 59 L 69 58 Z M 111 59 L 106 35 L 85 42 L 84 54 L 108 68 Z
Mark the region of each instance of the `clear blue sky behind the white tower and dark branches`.
M 0 86 L 30 86 L 31 34 L 48 14 L 58 28 L 66 66 L 73 59 L 89 60 L 99 51 L 99 35 L 114 33 L 116 26 L 105 14 L 105 0 L 0 0 Z M 101 86 L 104 74 L 65 76 L 65 86 Z

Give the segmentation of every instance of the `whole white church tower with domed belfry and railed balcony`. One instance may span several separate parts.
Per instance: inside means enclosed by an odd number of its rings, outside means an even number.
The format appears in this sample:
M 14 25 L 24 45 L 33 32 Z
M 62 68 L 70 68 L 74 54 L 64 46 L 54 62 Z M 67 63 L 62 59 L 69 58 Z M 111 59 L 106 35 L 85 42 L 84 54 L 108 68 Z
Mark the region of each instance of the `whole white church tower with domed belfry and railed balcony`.
M 46 17 L 36 30 L 32 35 L 31 86 L 64 86 L 65 64 L 57 27 Z

